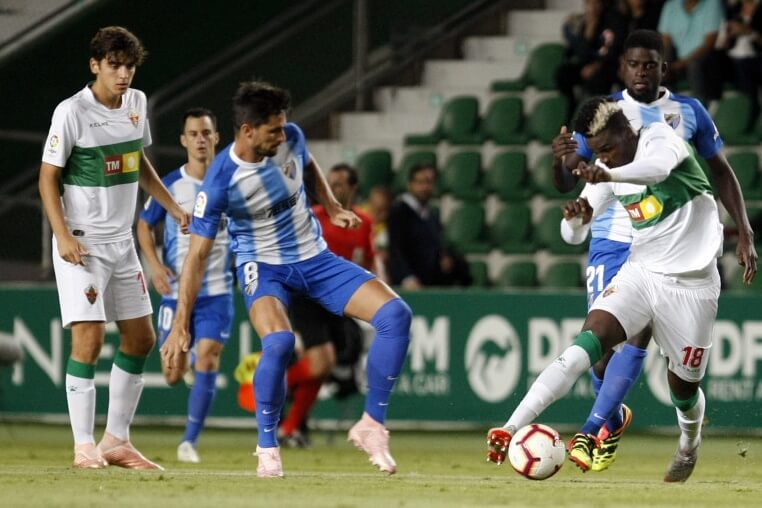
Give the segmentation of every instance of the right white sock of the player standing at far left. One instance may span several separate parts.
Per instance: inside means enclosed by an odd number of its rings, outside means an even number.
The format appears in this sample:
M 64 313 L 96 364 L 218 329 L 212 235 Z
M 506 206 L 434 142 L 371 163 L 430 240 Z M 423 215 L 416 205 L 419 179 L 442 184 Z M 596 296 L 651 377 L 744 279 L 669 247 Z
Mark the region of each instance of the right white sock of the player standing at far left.
M 130 439 L 130 424 L 143 392 L 143 384 L 142 374 L 130 374 L 116 364 L 111 367 L 106 432 L 124 441 Z

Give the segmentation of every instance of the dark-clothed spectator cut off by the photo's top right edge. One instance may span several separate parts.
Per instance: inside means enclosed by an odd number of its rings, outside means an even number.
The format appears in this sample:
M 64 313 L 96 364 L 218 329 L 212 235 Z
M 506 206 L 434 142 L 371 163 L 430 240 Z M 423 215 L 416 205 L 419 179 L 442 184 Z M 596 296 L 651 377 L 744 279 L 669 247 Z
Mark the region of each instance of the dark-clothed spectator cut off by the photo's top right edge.
M 727 0 L 727 23 L 721 34 L 738 89 L 752 101 L 752 114 L 759 114 L 759 84 L 762 83 L 762 9 L 759 0 Z

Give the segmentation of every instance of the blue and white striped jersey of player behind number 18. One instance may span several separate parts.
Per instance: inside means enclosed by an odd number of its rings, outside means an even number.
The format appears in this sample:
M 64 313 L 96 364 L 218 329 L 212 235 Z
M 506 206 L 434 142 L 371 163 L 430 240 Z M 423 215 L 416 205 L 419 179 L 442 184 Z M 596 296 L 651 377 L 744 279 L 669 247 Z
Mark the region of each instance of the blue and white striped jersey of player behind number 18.
M 659 89 L 659 93 L 661 96 L 648 104 L 636 101 L 630 97 L 627 90 L 612 94 L 610 97 L 617 101 L 633 129 L 640 130 L 641 127 L 654 122 L 664 122 L 680 137 L 691 142 L 704 159 L 717 155 L 722 149 L 722 138 L 712 117 L 701 102 L 693 97 L 673 94 L 664 87 Z M 579 145 L 577 154 L 591 160 L 594 154 L 587 146 L 585 137 L 575 132 L 574 138 Z M 591 235 L 593 238 L 632 242 L 631 233 L 627 235 L 629 239 L 622 234 L 629 228 L 631 228 L 629 215 L 617 202 L 593 220 Z

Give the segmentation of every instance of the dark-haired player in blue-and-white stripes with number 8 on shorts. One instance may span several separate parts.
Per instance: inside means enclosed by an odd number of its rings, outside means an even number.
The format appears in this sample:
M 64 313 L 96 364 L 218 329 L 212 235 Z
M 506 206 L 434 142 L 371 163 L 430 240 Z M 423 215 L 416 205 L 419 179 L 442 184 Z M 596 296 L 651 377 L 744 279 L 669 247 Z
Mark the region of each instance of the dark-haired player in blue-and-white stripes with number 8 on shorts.
M 177 366 L 188 351 L 189 311 L 224 213 L 249 319 L 262 339 L 254 375 L 257 475 L 283 476 L 277 428 L 294 349 L 287 309 L 295 293 L 376 329 L 368 353 L 365 412 L 350 429 L 349 440 L 381 471 L 392 474 L 397 466 L 384 422 L 407 353 L 412 313 L 370 272 L 326 248 L 304 179 L 314 179 L 315 195 L 333 224 L 351 228 L 359 219 L 341 207 L 301 129 L 286 121 L 289 105 L 288 92 L 268 83 L 247 82 L 238 88 L 233 98 L 235 140 L 215 158 L 196 198 L 175 320 L 161 352 L 168 365 Z

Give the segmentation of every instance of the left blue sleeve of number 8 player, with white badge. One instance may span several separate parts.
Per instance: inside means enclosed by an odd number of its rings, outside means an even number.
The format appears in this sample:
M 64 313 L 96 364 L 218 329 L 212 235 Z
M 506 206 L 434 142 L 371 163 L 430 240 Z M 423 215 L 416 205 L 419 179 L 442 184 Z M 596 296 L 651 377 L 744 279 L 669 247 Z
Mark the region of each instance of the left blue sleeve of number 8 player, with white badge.
M 193 206 L 190 232 L 214 239 L 217 236 L 217 228 L 222 220 L 222 214 L 228 207 L 228 183 L 230 174 L 225 171 L 225 164 L 215 163 L 209 167 L 201 190 L 196 195 L 196 204 Z

